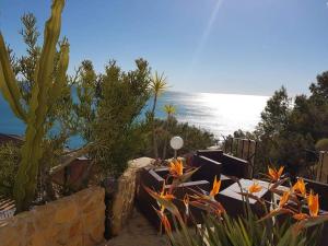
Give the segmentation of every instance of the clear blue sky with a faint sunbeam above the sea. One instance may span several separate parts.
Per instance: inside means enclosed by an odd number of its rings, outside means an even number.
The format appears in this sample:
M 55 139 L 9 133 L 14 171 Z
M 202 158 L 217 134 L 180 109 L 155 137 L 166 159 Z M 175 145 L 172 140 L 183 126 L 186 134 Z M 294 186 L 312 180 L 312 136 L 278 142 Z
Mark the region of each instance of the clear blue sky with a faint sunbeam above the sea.
M 70 71 L 91 59 L 124 69 L 143 57 L 173 90 L 270 95 L 305 93 L 328 70 L 328 0 L 68 0 L 62 34 Z M 50 0 L 0 0 L 0 30 L 24 51 L 20 16 L 43 28 Z

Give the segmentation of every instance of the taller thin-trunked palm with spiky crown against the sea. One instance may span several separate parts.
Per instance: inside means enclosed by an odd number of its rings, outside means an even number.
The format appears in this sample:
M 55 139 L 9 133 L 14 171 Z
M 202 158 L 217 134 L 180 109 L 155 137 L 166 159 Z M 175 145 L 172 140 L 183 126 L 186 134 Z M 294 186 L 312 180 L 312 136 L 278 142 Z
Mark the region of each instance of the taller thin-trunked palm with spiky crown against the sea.
M 159 74 L 155 72 L 152 81 L 151 81 L 151 92 L 153 95 L 153 108 L 151 112 L 151 119 L 152 119 L 152 131 L 153 131 L 153 148 L 154 148 L 154 157 L 159 159 L 159 149 L 156 142 L 156 132 L 155 132 L 155 109 L 157 104 L 159 96 L 167 89 L 166 77 L 164 73 Z

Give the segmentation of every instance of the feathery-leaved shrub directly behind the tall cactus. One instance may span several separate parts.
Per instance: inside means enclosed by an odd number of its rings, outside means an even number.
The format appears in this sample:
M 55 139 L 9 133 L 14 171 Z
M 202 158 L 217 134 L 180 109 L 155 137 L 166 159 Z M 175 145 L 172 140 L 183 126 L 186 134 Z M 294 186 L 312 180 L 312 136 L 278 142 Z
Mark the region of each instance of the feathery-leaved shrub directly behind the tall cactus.
M 45 69 L 40 67 L 42 50 L 40 46 L 40 34 L 37 28 L 36 17 L 32 13 L 26 13 L 21 17 L 23 28 L 20 31 L 22 39 L 26 46 L 26 54 L 21 57 L 15 56 L 13 50 L 8 47 L 9 60 L 11 63 L 12 72 L 14 74 L 14 80 L 19 87 L 19 94 L 21 94 L 20 103 L 24 109 L 31 108 L 33 93 L 36 89 L 40 90 L 42 83 L 37 82 L 37 69 Z M 46 37 L 46 36 L 45 36 Z M 34 142 L 33 145 L 42 145 L 42 154 L 38 160 L 37 167 L 37 195 L 40 200 L 54 200 L 56 198 L 55 190 L 51 184 L 50 168 L 58 165 L 62 161 L 65 154 L 69 154 L 65 151 L 67 141 L 77 131 L 74 122 L 71 120 L 72 110 L 72 98 L 71 98 L 71 78 L 66 77 L 63 72 L 68 66 L 68 55 L 62 55 L 62 47 L 68 51 L 68 40 L 62 38 L 58 43 L 55 43 L 54 59 L 52 62 L 51 80 L 54 81 L 51 87 L 51 96 L 48 97 L 46 104 L 48 106 L 45 116 L 43 127 L 43 138 L 39 139 L 39 143 Z M 51 52 L 52 52 L 51 51 Z M 47 54 L 49 50 L 47 51 Z M 44 56 L 45 58 L 45 56 Z M 43 59 L 44 59 L 43 58 Z M 65 66 L 65 67 L 63 67 Z M 50 69 L 51 70 L 51 69 Z M 49 72 L 49 71 L 48 71 Z M 55 85 L 56 84 L 56 85 Z M 34 93 L 36 94 L 36 93 Z M 44 95 L 46 95 L 45 93 Z M 26 122 L 26 120 L 24 120 Z M 28 122 L 26 122 L 28 125 Z M 32 122 L 35 125 L 35 122 Z M 39 131 L 39 133 L 42 132 Z M 1 151 L 7 151 L 7 147 L 0 147 Z M 34 151 L 35 152 L 35 151 Z M 35 152 L 36 153 L 36 152 Z M 11 166 L 17 166 L 16 157 L 10 159 Z M 7 160 L 9 162 L 9 160 Z M 30 164 L 28 164 L 30 165 Z M 7 169 L 0 169 L 1 174 L 7 173 Z M 13 179 L 16 178 L 16 173 L 12 176 Z M 21 187 L 21 185 L 19 185 Z M 11 184 L 10 194 L 13 192 L 13 185 Z M 35 189 L 35 188 L 33 188 Z M 32 200 L 34 198 L 31 198 Z M 30 203 L 30 202 L 28 202 Z

